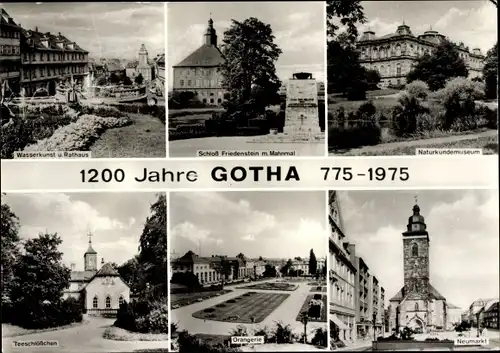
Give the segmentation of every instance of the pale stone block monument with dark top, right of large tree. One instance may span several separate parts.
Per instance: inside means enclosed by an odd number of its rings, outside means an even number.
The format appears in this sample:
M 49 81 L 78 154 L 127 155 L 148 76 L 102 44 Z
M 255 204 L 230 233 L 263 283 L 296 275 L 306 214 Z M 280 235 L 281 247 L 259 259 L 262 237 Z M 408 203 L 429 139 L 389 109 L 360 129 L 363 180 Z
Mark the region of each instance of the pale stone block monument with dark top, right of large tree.
M 312 74 L 293 74 L 286 90 L 283 133 L 261 136 L 251 142 L 323 143 L 318 107 L 318 84 Z

